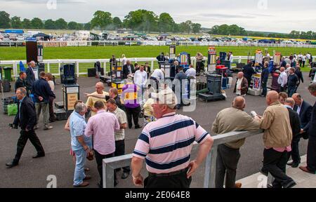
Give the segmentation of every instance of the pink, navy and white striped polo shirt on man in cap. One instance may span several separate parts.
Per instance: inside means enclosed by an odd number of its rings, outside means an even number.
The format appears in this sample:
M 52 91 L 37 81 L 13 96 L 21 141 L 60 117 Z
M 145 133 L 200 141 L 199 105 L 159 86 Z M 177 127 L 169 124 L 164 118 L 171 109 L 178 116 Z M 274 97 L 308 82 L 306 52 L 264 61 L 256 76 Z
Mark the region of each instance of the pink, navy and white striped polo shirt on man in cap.
M 190 117 L 165 114 L 145 126 L 133 156 L 145 159 L 150 173 L 171 173 L 187 168 L 193 143 L 201 144 L 208 136 Z

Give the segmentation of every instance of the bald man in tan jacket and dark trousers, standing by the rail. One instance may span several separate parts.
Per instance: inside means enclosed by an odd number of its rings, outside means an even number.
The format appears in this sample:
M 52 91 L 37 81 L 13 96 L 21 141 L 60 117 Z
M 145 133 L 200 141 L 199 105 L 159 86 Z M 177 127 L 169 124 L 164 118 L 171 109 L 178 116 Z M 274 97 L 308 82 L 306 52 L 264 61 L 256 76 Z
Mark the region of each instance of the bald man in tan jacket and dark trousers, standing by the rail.
M 263 143 L 263 168 L 265 175 L 271 173 L 275 177 L 272 182 L 274 188 L 290 188 L 296 183 L 287 176 L 287 156 L 291 152 L 292 131 L 289 120 L 289 111 L 278 101 L 279 94 L 271 90 L 266 102 L 268 108 L 265 109 L 263 116 L 256 116 L 260 121 L 260 128 L 265 130 Z M 267 173 L 268 172 L 268 173 Z

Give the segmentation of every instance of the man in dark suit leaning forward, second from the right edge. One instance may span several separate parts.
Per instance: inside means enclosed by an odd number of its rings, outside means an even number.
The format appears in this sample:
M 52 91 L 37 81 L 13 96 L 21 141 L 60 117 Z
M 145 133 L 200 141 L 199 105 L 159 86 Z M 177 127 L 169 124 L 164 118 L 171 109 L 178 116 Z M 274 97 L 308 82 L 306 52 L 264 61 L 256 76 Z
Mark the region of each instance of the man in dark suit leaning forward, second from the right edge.
M 293 162 L 288 163 L 288 165 L 296 166 L 299 163 L 301 163 L 301 156 L 298 150 L 298 143 L 300 142 L 301 137 L 303 137 L 304 139 L 308 139 L 308 127 L 310 125 L 310 113 L 312 112 L 312 106 L 310 106 L 308 102 L 305 102 L 302 96 L 298 93 L 294 93 L 294 95 L 292 95 L 292 98 L 295 101 L 294 111 L 297 112 L 300 116 L 301 132 L 300 134 L 293 136 L 291 151 Z M 293 158 L 293 156 L 296 157 Z

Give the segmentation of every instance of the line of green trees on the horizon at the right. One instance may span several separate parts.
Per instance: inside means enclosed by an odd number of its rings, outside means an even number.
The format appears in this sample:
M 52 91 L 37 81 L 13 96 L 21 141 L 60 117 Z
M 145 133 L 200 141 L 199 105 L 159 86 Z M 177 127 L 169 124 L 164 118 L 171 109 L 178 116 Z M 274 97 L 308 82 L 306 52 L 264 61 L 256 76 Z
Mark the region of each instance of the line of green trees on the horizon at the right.
M 209 32 L 209 34 L 218 35 L 233 35 L 233 36 L 261 36 L 281 39 L 316 39 L 316 32 L 299 32 L 292 31 L 289 34 L 282 33 L 268 33 L 268 32 L 253 32 L 246 31 L 243 27 L 237 25 L 215 25 Z

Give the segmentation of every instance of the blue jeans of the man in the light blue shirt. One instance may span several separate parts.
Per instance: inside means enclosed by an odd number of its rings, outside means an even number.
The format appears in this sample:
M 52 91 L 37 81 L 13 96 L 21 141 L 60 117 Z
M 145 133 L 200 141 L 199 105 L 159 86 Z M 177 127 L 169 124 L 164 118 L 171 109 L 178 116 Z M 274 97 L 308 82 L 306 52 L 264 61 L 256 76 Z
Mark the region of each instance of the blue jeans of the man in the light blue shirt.
M 86 164 L 86 151 L 79 149 L 74 151 L 76 155 L 76 168 L 74 168 L 74 186 L 82 184 L 86 175 L 84 174 L 84 165 Z

